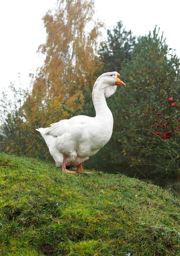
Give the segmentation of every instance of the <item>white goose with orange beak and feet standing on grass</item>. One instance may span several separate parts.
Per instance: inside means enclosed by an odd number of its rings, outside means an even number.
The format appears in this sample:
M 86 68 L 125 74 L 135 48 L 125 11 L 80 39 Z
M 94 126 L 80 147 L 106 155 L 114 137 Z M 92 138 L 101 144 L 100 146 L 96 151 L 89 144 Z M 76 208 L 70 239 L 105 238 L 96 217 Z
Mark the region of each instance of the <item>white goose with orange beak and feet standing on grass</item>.
M 46 141 L 56 166 L 62 166 L 63 172 L 76 173 L 67 170 L 66 166 L 77 166 L 78 172 L 85 172 L 82 163 L 110 140 L 113 116 L 106 98 L 115 93 L 117 85 L 126 86 L 119 76 L 115 71 L 108 72 L 95 81 L 92 91 L 95 117 L 74 116 L 51 124 L 48 128 L 36 129 Z

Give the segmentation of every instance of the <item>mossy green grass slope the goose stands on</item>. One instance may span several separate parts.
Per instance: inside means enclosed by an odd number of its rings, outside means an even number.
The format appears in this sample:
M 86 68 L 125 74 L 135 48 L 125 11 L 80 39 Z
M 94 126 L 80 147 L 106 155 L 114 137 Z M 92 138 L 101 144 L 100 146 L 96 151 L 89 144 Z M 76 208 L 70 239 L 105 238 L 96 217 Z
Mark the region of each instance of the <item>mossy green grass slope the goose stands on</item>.
M 180 201 L 121 174 L 0 153 L 0 255 L 177 256 Z

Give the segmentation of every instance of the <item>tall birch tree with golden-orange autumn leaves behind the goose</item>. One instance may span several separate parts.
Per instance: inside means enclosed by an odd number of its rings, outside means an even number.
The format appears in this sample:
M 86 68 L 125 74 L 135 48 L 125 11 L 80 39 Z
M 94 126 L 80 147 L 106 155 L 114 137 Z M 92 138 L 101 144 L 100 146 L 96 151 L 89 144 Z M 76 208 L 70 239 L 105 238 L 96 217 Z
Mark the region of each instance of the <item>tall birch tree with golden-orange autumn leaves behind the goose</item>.
M 78 114 L 80 105 L 76 99 L 79 97 L 82 103 L 86 90 L 92 90 L 94 73 L 100 67 L 96 52 L 102 26 L 93 20 L 93 15 L 92 0 L 61 0 L 54 14 L 49 11 L 43 17 L 47 40 L 38 52 L 46 59 L 35 78 L 32 76 L 29 101 L 36 110 L 41 112 L 43 108 L 46 125 L 71 117 L 66 107 Z

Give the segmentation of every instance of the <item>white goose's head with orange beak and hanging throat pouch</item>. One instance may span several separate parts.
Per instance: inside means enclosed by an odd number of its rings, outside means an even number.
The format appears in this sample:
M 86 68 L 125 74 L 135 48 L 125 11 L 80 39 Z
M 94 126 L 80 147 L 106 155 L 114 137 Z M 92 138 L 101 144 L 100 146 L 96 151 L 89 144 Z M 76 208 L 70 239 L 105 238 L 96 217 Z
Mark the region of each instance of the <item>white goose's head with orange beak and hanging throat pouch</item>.
M 109 98 L 111 95 L 115 93 L 117 86 L 126 86 L 126 84 L 122 80 L 120 80 L 119 77 L 120 74 L 116 71 L 107 72 L 99 76 L 95 83 L 96 85 L 94 85 L 99 87 L 99 89 L 104 89 L 105 97 Z

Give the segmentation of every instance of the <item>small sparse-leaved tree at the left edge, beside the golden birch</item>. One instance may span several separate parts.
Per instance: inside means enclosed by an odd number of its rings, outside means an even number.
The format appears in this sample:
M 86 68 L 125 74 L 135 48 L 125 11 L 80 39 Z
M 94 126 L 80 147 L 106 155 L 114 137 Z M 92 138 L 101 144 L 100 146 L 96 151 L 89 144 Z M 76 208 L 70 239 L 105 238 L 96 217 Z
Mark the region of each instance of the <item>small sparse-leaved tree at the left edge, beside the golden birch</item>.
M 28 146 L 26 137 L 30 131 L 25 122 L 25 114 L 22 109 L 23 99 L 26 95 L 25 90 L 16 90 L 13 83 L 10 84 L 11 99 L 8 94 L 3 92 L 1 99 L 1 131 L 0 150 L 15 153 L 17 155 L 26 154 Z M 32 134 L 31 134 L 32 135 Z M 33 143 L 31 143 L 31 148 Z

